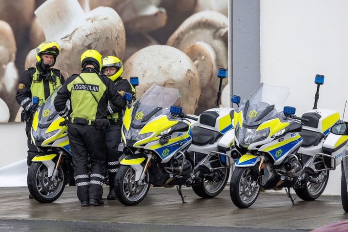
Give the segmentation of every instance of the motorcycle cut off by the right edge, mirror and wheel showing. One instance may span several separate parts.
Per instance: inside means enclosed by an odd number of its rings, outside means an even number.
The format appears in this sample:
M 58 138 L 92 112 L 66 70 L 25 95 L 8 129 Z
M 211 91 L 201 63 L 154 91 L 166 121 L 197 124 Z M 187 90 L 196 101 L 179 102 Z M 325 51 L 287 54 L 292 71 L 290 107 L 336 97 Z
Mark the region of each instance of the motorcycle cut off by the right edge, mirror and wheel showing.
M 348 123 L 342 122 L 331 128 L 331 134 L 337 141 L 343 142 L 345 149 L 343 152 L 338 153 L 336 156 L 341 157 L 341 202 L 344 211 L 348 212 Z

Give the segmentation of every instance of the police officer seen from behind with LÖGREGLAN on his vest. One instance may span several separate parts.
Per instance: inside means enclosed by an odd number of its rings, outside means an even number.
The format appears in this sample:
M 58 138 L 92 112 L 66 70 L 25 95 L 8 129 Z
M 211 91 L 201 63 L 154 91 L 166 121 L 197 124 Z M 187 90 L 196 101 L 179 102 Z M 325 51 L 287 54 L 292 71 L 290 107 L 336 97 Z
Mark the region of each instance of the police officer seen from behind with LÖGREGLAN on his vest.
M 116 85 L 100 75 L 102 55 L 87 50 L 81 56 L 82 73 L 72 75 L 63 84 L 54 100 L 61 117 L 70 114 L 68 137 L 73 152 L 77 196 L 82 206 L 104 204 L 101 200 L 105 175 L 105 146 L 103 128 L 106 126 L 108 100 L 116 107 L 126 105 Z M 70 99 L 70 111 L 66 101 Z M 90 156 L 91 174 L 87 159 Z

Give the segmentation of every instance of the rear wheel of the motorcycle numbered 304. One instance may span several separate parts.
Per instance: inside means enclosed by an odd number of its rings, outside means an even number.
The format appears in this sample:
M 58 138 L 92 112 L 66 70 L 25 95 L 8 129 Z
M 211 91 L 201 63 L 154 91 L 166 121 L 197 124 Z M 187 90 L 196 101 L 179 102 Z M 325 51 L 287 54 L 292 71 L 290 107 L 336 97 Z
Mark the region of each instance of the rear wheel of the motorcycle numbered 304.
M 203 178 L 198 185 L 192 186 L 193 191 L 202 198 L 213 198 L 219 195 L 226 186 L 229 168 L 219 169 L 216 173 L 218 173 L 218 176 L 213 180 Z

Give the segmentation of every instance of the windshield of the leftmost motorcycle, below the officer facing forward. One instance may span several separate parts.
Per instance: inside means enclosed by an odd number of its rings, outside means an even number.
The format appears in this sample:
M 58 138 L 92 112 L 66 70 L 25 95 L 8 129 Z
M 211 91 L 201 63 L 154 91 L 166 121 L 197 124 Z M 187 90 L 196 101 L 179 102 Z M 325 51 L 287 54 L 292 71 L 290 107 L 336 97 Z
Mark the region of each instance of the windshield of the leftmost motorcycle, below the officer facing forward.
M 49 96 L 46 101 L 37 109 L 39 127 L 48 127 L 56 118 L 60 117 L 53 104 L 60 88 L 61 86 L 53 91 L 51 96 Z M 66 102 L 66 105 L 68 109 L 70 109 L 70 100 Z

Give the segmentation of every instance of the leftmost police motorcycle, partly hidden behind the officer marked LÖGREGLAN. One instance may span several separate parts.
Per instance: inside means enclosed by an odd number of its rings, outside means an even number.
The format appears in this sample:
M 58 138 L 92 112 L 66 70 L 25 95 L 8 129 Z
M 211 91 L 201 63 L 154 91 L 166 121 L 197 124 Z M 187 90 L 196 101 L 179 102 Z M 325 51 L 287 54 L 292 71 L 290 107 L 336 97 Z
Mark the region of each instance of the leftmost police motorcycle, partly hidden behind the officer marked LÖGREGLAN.
M 27 184 L 30 194 L 41 203 L 57 200 L 64 190 L 67 176 L 73 178 L 73 169 L 69 167 L 72 152 L 67 127 L 53 104 L 59 89 L 38 107 L 31 128 L 31 139 L 40 152 L 32 159 Z M 69 101 L 66 105 L 70 107 Z

